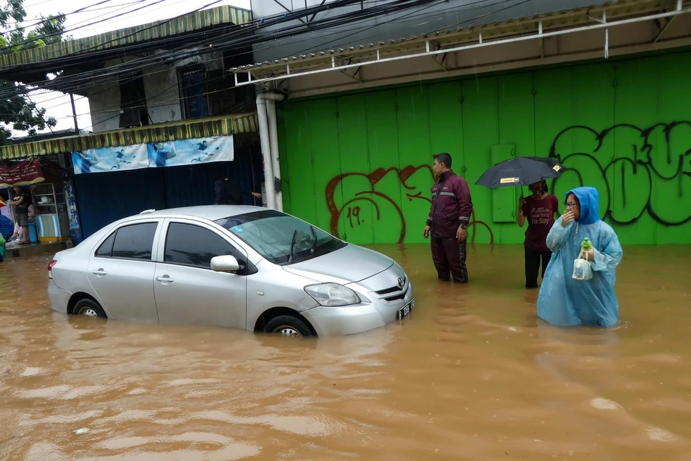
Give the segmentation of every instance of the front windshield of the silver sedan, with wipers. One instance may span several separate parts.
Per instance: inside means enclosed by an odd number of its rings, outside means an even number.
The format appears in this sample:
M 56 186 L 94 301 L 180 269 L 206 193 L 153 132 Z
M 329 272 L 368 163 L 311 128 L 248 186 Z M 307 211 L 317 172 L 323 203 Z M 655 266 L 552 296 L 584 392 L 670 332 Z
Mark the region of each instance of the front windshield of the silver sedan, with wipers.
M 279 265 L 307 261 L 347 245 L 305 221 L 274 209 L 229 216 L 214 223 Z

